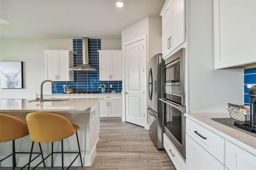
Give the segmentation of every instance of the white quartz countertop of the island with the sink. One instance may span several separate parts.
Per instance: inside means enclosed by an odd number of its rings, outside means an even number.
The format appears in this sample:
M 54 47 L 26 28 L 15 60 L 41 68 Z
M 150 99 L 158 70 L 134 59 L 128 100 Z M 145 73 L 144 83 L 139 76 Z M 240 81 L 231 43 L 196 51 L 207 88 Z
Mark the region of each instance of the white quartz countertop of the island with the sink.
M 28 102 L 33 99 L 1 99 L 0 112 L 56 112 L 85 111 L 102 98 L 69 99 L 67 101 Z

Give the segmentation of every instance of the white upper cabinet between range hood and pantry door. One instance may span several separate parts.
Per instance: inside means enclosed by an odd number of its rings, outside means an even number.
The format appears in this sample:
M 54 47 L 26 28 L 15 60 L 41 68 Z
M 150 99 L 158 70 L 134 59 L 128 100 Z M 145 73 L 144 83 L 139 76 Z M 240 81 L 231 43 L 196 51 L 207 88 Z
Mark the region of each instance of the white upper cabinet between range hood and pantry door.
M 100 81 L 122 81 L 122 50 L 98 50 Z

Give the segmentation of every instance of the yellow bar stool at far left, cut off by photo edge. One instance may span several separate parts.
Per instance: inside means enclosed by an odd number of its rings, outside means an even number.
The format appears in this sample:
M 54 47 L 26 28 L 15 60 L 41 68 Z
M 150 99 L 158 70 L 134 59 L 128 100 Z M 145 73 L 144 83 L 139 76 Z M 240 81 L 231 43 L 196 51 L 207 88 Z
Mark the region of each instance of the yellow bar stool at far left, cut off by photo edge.
M 5 115 L 0 113 L 0 142 L 8 142 L 12 140 L 12 154 L 6 156 L 2 160 L 0 160 L 0 162 L 12 156 L 12 169 L 14 170 L 16 167 L 16 154 L 31 154 L 31 152 L 15 151 L 15 140 L 18 138 L 27 136 L 28 134 L 29 134 L 28 126 L 22 120 L 10 115 Z M 39 147 L 40 147 L 40 152 L 32 152 L 33 154 L 38 154 L 33 160 L 35 160 L 40 155 L 42 155 L 42 159 L 44 160 L 44 157 L 42 154 L 42 148 L 40 144 L 39 144 Z M 25 168 L 27 165 L 28 163 L 25 166 L 23 166 L 21 169 Z M 45 167 L 45 163 L 44 163 L 44 167 Z

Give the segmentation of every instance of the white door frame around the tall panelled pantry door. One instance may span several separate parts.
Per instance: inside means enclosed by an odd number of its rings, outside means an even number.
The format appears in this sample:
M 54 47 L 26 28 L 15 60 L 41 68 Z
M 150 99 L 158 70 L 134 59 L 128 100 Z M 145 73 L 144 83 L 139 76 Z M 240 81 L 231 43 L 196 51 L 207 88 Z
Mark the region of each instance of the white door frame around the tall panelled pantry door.
M 125 59 L 124 59 L 124 46 L 126 45 L 129 45 L 131 43 L 135 43 L 135 42 L 138 42 L 140 40 L 143 40 L 144 41 L 144 48 L 146 48 L 146 61 L 148 62 L 148 50 L 147 50 L 147 36 L 144 35 L 144 36 L 141 36 L 141 37 L 138 37 L 138 38 L 135 38 L 133 40 L 130 40 L 129 42 L 126 42 L 126 43 L 123 43 L 122 44 L 122 72 L 123 72 L 123 79 L 122 79 L 122 121 L 126 121 L 126 114 L 125 114 Z M 147 62 L 145 63 L 145 80 L 147 80 Z M 147 82 L 144 83 L 144 89 L 145 89 L 145 97 L 144 97 L 144 100 L 143 100 L 143 103 L 146 103 L 145 107 L 143 107 L 143 111 L 145 113 L 145 117 L 144 117 L 144 128 L 148 129 L 148 125 L 147 125 L 147 122 L 148 122 L 148 114 L 147 114 L 147 99 L 148 99 L 148 93 L 147 93 Z

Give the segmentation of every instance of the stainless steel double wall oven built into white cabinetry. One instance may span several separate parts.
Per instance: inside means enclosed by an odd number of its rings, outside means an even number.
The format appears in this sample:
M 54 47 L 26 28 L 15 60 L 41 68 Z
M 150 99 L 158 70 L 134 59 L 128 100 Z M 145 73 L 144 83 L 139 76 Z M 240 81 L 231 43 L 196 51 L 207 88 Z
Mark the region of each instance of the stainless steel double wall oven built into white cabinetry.
M 180 154 L 185 152 L 185 48 L 163 61 L 163 131 Z

